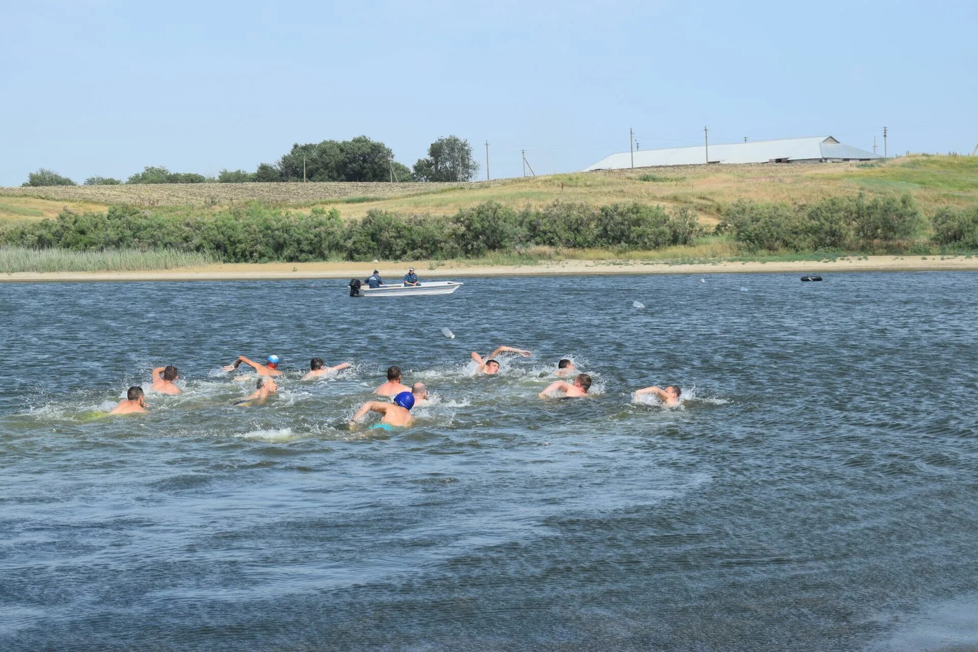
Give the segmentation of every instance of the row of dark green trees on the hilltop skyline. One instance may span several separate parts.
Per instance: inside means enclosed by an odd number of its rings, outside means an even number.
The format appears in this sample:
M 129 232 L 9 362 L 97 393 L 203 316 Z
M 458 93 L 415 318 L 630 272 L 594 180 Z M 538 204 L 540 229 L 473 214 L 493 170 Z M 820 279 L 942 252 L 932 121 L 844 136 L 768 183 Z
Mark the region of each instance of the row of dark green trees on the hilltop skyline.
M 254 172 L 222 169 L 217 177 L 194 172 L 170 172 L 162 166 L 146 167 L 130 176 L 126 184 L 240 184 L 246 182 L 297 181 L 442 181 L 471 180 L 479 171 L 468 141 L 457 136 L 439 138 L 428 147 L 427 156 L 419 158 L 414 168 L 394 160 L 394 152 L 379 141 L 357 136 L 348 141 L 298 143 L 275 163 L 261 163 Z M 120 184 L 111 177 L 89 177 L 86 186 Z M 39 169 L 32 172 L 23 186 L 74 186 L 73 181 L 57 172 Z

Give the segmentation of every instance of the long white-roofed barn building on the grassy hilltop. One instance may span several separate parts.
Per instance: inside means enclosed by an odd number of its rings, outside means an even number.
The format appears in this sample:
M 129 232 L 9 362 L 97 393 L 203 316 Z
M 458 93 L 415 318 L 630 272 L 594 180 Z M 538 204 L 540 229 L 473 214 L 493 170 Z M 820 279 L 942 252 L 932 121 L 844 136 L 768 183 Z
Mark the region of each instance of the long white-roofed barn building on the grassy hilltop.
M 642 150 L 634 152 L 634 167 L 701 165 L 707 162 L 706 154 L 707 149 L 702 145 L 693 148 Z M 613 153 L 584 171 L 633 167 L 632 155 L 632 152 Z M 843 145 L 831 136 L 710 145 L 709 155 L 710 163 L 824 163 L 882 158 L 878 154 Z

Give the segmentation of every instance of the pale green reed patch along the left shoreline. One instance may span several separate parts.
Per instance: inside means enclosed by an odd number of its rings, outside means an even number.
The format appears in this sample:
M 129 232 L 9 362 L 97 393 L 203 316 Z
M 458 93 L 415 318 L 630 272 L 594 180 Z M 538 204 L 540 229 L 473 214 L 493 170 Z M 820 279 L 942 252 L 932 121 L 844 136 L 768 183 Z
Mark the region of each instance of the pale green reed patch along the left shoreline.
M 173 249 L 72 251 L 0 246 L 0 273 L 2 274 L 171 270 L 210 265 L 215 262 L 217 262 L 216 257 L 209 253 Z

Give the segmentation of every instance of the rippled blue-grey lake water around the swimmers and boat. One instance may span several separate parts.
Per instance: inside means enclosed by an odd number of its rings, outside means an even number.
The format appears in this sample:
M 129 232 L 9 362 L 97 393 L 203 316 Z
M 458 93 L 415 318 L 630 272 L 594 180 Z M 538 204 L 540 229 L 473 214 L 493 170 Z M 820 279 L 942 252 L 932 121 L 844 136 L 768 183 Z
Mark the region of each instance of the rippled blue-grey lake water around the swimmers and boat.
M 978 640 L 976 279 L 0 284 L 0 649 Z M 473 376 L 499 344 L 534 356 Z M 594 398 L 536 398 L 562 357 Z M 100 414 L 165 364 L 183 395 Z M 348 430 L 392 364 L 417 427 Z

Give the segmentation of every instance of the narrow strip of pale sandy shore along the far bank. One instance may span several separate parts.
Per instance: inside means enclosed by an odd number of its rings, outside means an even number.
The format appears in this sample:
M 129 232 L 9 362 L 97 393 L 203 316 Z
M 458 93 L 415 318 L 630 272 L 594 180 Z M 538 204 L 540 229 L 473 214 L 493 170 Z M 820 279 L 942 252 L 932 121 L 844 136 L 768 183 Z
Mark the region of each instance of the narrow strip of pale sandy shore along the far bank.
M 283 281 L 306 279 L 365 279 L 374 269 L 390 281 L 399 281 L 407 272 L 406 263 L 235 263 L 207 265 L 152 272 L 19 272 L 0 275 L 10 283 L 89 283 L 98 281 Z M 426 262 L 415 263 L 422 278 L 543 276 L 553 274 L 831 274 L 833 272 L 915 272 L 978 271 L 978 257 L 964 256 L 868 256 L 826 261 L 719 262 L 667 264 L 644 261 L 568 260 L 537 265 L 470 265 L 446 263 L 429 269 Z

